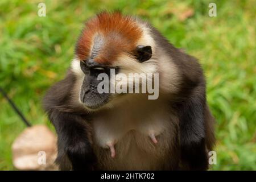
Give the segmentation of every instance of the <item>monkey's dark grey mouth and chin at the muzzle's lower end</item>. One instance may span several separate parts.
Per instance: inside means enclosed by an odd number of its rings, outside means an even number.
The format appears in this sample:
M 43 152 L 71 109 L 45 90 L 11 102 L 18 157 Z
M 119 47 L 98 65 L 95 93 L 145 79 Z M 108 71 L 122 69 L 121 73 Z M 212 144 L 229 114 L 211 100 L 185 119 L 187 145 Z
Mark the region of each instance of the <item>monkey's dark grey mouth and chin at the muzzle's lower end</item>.
M 97 110 L 109 102 L 109 94 L 97 92 L 80 93 L 80 101 L 88 109 Z

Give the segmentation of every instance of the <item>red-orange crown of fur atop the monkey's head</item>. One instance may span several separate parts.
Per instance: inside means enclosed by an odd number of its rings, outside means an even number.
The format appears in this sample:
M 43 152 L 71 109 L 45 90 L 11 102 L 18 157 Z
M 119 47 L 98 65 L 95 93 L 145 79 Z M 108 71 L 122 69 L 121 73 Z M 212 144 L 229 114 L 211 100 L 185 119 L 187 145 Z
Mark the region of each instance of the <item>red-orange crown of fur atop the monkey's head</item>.
M 137 40 L 142 36 L 142 30 L 130 16 L 123 16 L 119 12 L 100 13 L 85 24 L 77 42 L 76 54 L 80 60 L 90 56 L 90 49 L 96 34 L 103 36 L 105 42 L 94 61 L 110 63 L 117 58 L 119 53 L 134 51 Z

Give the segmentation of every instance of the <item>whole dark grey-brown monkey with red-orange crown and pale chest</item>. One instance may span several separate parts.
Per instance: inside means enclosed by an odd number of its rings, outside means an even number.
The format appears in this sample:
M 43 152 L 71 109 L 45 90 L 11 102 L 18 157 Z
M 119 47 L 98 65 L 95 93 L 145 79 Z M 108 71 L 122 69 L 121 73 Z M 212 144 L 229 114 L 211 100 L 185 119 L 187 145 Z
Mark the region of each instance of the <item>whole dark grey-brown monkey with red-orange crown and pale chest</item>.
M 98 93 L 97 77 L 110 69 L 159 73 L 158 99 Z M 208 169 L 214 118 L 200 64 L 138 18 L 103 12 L 88 20 L 44 108 L 57 131 L 60 169 Z

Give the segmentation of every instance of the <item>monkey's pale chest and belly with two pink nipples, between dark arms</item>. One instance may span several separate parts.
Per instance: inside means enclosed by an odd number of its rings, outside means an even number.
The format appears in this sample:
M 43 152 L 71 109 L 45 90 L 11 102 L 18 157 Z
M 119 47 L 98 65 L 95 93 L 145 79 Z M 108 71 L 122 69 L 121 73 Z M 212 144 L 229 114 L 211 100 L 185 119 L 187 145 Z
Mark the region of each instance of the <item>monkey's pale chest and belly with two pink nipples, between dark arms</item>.
M 123 118 L 123 119 L 122 119 Z M 163 169 L 171 145 L 168 115 L 105 117 L 93 122 L 93 147 L 101 169 Z

